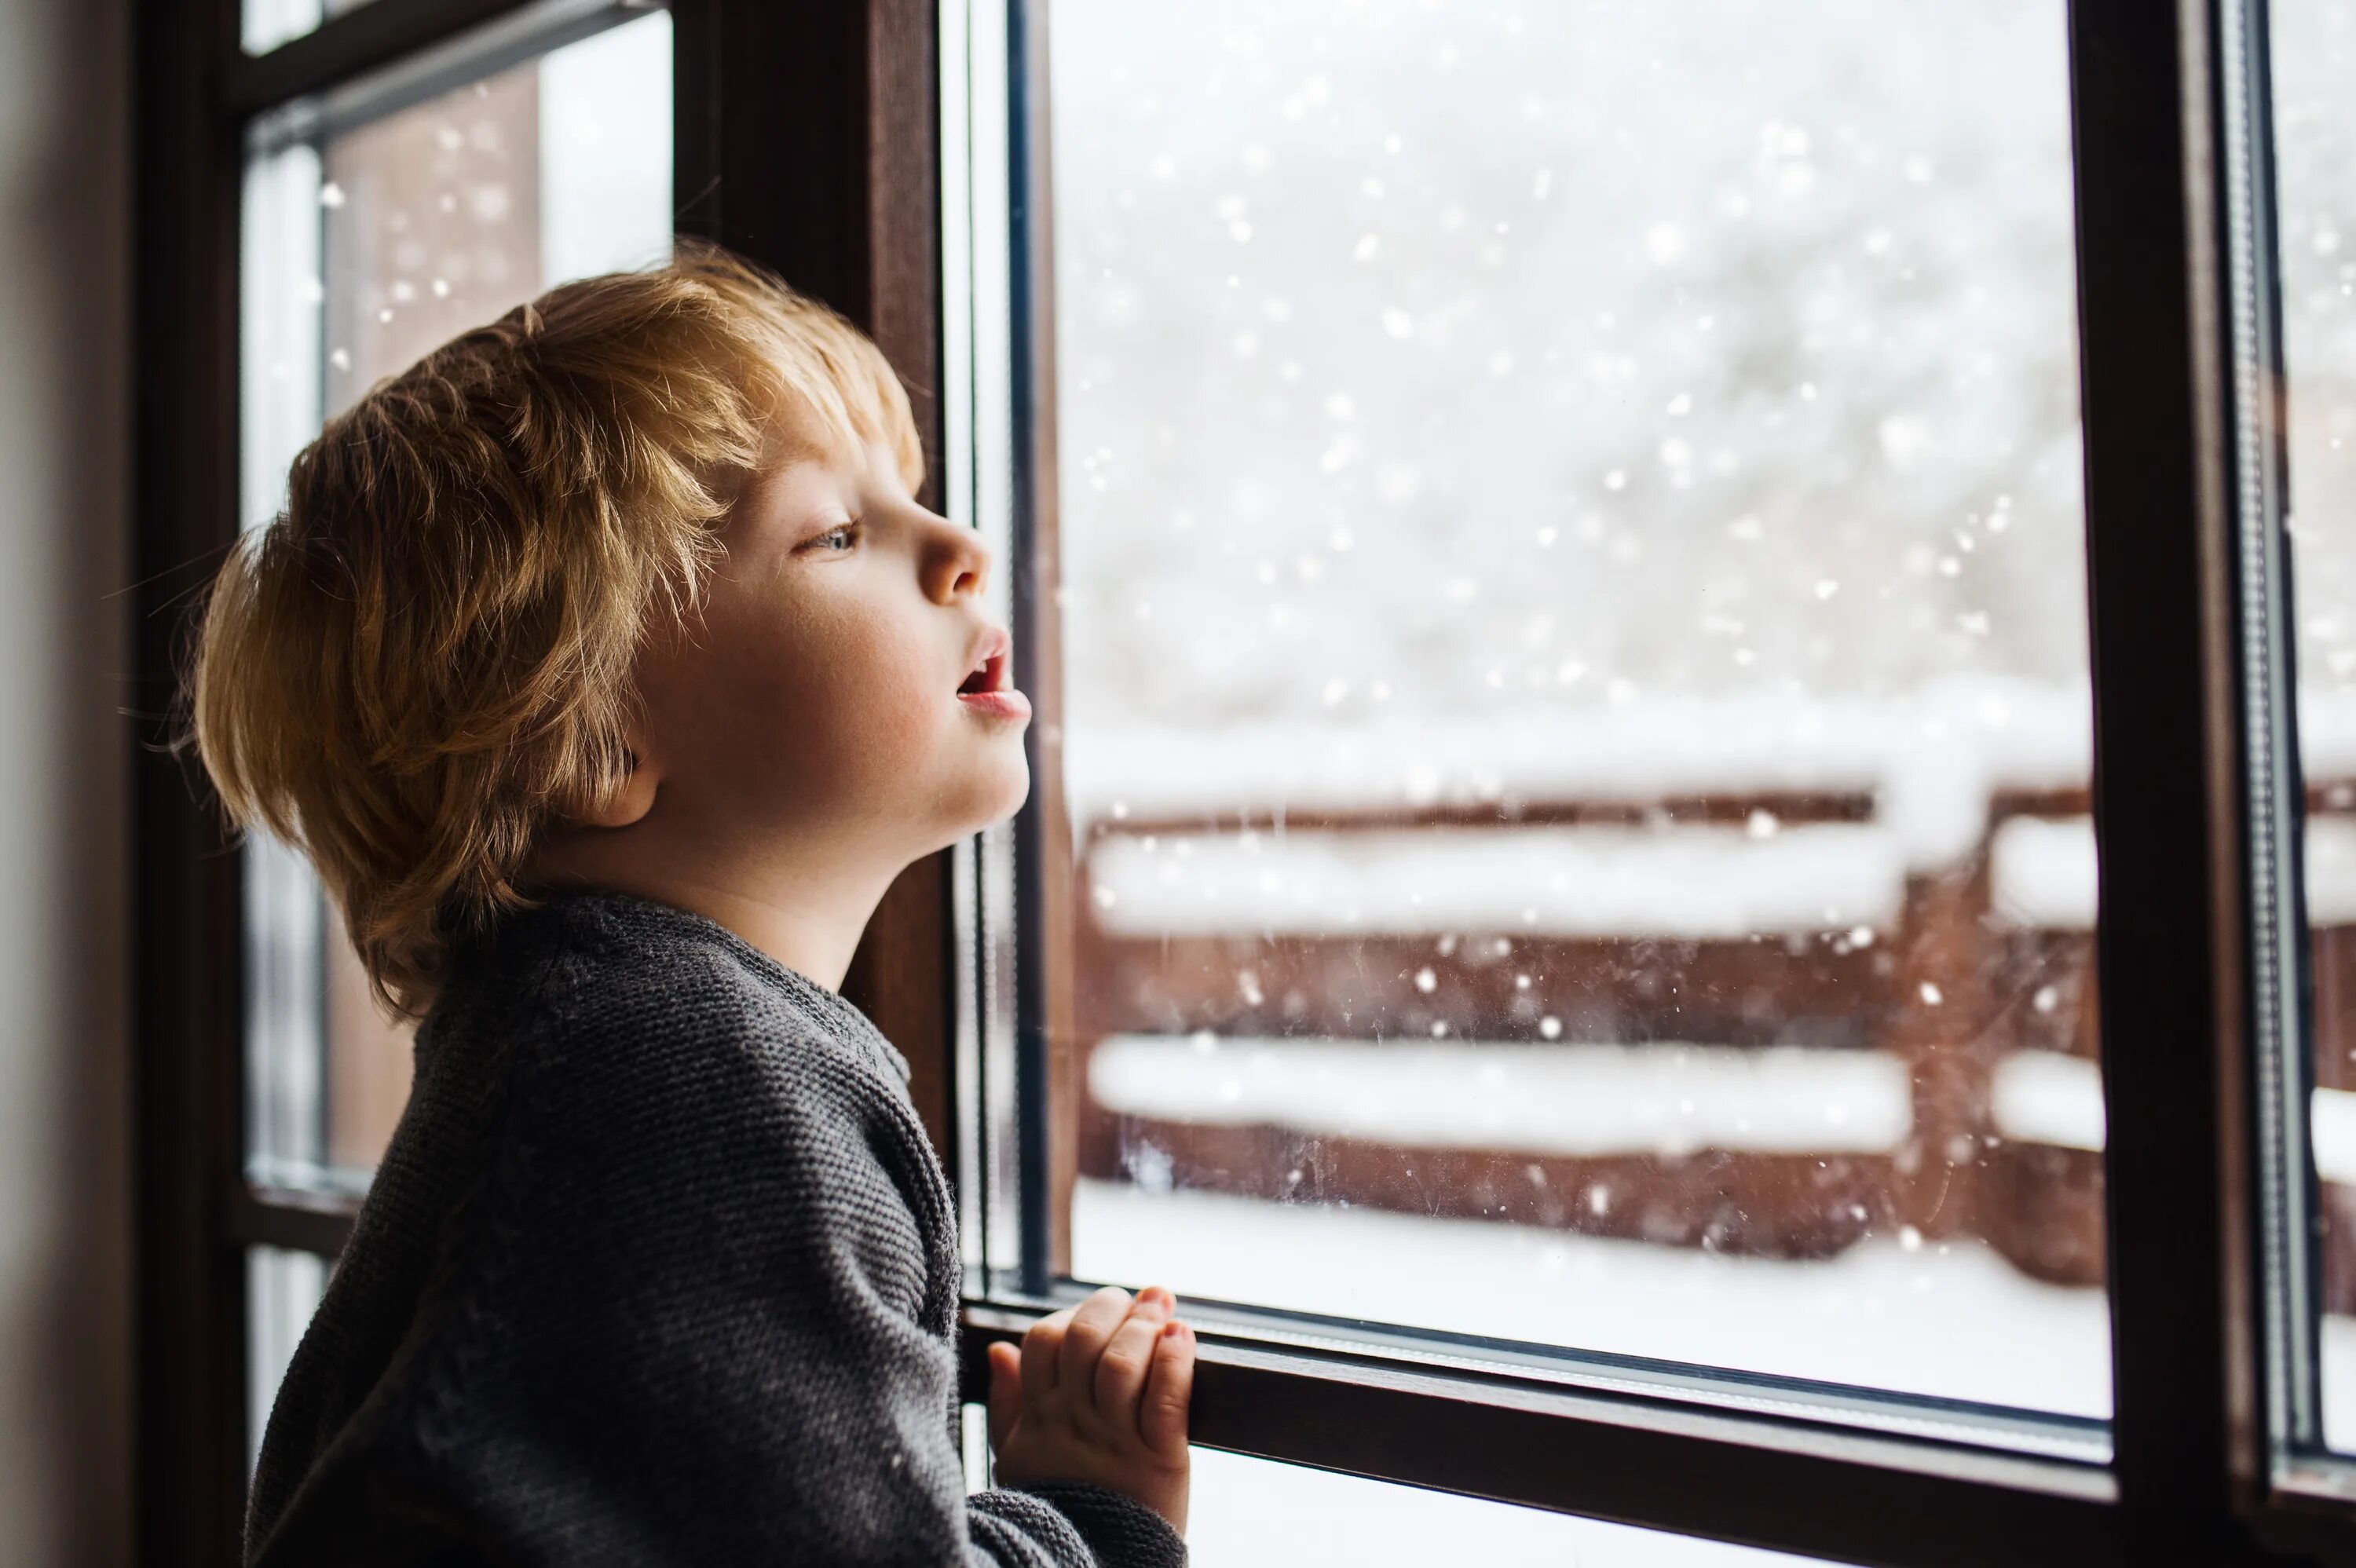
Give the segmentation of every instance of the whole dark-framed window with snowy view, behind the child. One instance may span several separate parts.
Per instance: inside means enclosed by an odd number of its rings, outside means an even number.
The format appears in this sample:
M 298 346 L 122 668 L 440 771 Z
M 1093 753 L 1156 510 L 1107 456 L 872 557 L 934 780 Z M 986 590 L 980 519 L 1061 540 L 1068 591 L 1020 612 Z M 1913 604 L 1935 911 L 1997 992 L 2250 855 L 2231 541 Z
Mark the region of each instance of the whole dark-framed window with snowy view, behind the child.
M 2356 1561 L 2351 38 L 148 7 L 151 706 L 342 400 L 716 235 L 884 341 L 1013 567 L 1032 805 L 846 982 L 968 1366 L 1176 1285 L 1206 1556 Z M 139 756 L 141 1521 L 226 1563 L 405 1038 Z

